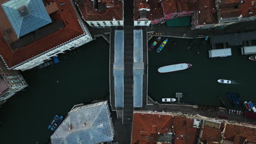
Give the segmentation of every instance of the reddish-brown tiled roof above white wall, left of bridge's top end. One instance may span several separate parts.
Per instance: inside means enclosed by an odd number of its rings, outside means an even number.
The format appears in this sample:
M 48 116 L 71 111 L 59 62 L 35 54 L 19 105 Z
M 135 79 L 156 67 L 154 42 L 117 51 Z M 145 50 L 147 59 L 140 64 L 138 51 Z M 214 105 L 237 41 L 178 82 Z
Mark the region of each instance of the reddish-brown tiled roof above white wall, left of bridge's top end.
M 113 17 L 115 20 L 123 20 L 123 3 L 118 0 L 104 0 L 99 4 L 111 4 L 114 2 L 114 7 L 106 8 L 103 11 L 97 11 L 93 8 L 93 2 L 91 0 L 80 0 L 84 4 L 79 4 L 78 8 L 85 21 L 112 21 Z

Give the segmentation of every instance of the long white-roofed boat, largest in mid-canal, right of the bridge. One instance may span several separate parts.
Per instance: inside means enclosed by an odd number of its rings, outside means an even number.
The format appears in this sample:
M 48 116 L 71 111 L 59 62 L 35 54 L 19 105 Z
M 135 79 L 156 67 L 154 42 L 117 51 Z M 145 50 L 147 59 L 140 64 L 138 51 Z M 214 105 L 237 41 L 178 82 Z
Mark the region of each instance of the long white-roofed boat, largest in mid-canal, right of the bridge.
M 158 69 L 159 73 L 169 73 L 173 71 L 179 71 L 184 70 L 192 67 L 192 64 L 190 63 L 179 63 L 179 64 L 172 64 L 172 65 L 166 65 L 164 67 L 160 67 Z

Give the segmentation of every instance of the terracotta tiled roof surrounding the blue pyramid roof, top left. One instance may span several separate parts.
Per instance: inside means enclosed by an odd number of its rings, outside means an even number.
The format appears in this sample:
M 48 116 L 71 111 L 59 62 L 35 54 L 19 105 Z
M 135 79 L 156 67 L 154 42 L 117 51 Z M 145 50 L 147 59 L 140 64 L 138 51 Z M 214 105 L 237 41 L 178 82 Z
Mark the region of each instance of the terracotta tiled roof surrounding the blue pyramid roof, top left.
M 6 2 L 6 0 L 0 0 L 0 4 Z M 1 19 L 3 21 L 7 21 L 4 25 L 0 24 L 0 45 L 1 51 L 0 55 L 3 56 L 5 62 L 7 63 L 8 67 L 14 67 L 15 65 L 20 64 L 21 62 L 26 61 L 34 56 L 39 55 L 47 50 L 52 49 L 54 46 L 60 45 L 65 43 L 65 41 L 71 40 L 79 35 L 82 35 L 83 29 L 81 28 L 78 17 L 75 14 L 75 11 L 72 7 L 70 1 L 65 0 L 58 0 L 58 1 L 50 1 L 45 0 L 45 3 L 50 4 L 50 2 L 56 2 L 57 7 L 59 8 L 59 13 L 50 14 L 50 17 L 53 21 L 62 20 L 65 23 L 65 28 L 60 29 L 46 37 L 43 37 L 37 41 L 34 41 L 31 44 L 28 44 L 24 47 L 16 51 L 12 51 L 9 47 L 9 43 L 6 41 L 6 37 L 11 36 L 11 34 L 7 35 L 4 32 L 10 26 L 10 23 L 5 19 Z M 60 5 L 61 3 L 66 3 L 65 5 Z M 0 7 L 0 12 L 2 12 L 2 7 Z M 4 17 L 4 13 L 0 13 L 1 18 Z M 3 23 L 2 23 L 3 24 Z

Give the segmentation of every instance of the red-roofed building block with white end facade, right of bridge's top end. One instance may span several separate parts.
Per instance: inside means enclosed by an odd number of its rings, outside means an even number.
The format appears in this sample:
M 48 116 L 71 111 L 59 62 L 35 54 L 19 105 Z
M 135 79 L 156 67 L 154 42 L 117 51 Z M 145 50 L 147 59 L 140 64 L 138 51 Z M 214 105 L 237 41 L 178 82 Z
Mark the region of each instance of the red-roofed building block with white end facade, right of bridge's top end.
M 134 26 L 150 26 L 192 15 L 197 1 L 135 0 Z

